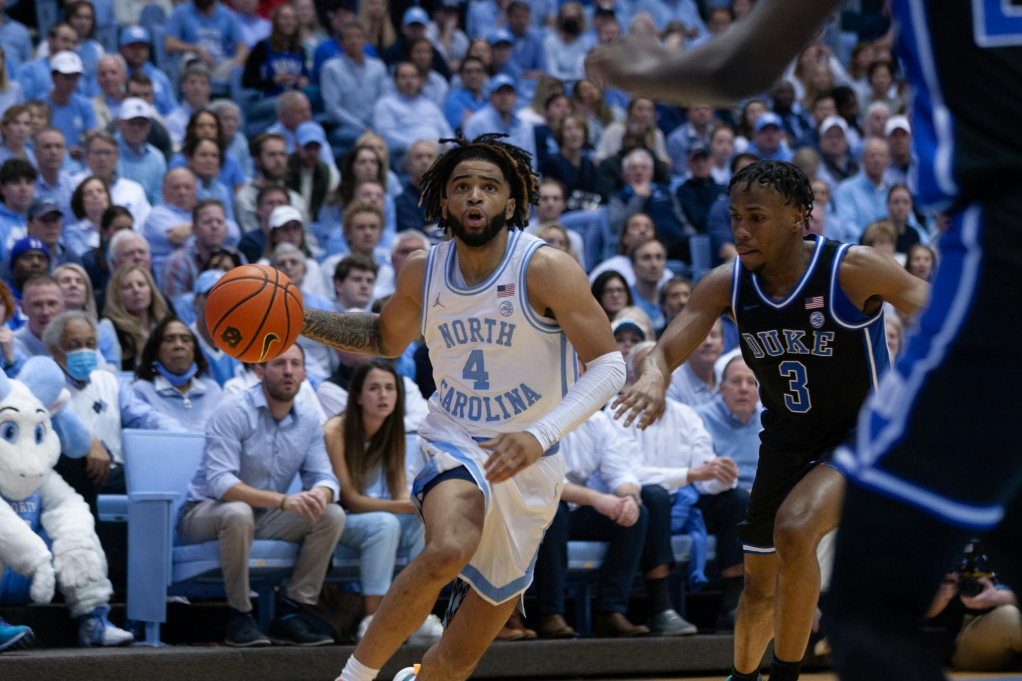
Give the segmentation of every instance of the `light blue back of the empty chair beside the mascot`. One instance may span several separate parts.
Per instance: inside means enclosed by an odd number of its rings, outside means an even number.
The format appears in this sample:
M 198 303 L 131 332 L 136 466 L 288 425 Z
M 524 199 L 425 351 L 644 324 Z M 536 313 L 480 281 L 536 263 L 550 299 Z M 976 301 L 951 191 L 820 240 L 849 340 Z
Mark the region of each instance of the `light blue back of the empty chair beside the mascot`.
M 128 494 L 169 492 L 171 518 L 185 501 L 188 484 L 202 465 L 205 436 L 201 433 L 167 433 L 126 428 L 121 434 Z M 173 523 L 173 520 L 172 520 Z

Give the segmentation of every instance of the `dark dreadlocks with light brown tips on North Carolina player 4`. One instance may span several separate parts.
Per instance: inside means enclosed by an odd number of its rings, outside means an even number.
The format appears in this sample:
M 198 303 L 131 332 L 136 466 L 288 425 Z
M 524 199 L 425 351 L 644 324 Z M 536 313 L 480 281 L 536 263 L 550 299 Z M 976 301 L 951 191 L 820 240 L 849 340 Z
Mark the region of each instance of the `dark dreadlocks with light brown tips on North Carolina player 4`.
M 515 200 L 514 215 L 507 221 L 508 227 L 524 229 L 528 224 L 529 207 L 540 202 L 540 189 L 537 176 L 532 173 L 532 154 L 513 144 L 500 141 L 507 137 L 500 133 L 479 135 L 468 141 L 464 137 L 457 139 L 442 139 L 440 143 L 453 142 L 457 146 L 440 155 L 422 175 L 419 186 L 422 188 L 422 198 L 419 206 L 426 209 L 426 221 L 437 221 L 440 227 L 447 227 L 440 211 L 440 198 L 446 196 L 447 183 L 454 173 L 455 167 L 463 161 L 487 161 L 501 169 L 508 184 L 511 185 L 511 198 Z

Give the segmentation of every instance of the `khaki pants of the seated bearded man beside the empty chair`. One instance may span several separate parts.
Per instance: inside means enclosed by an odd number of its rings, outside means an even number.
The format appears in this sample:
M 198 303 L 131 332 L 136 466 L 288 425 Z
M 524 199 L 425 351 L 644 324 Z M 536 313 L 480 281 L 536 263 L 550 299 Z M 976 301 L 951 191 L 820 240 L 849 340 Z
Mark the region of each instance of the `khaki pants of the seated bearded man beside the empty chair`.
M 330 556 L 343 531 L 344 511 L 337 504 L 327 504 L 322 515 L 313 520 L 293 511 L 252 508 L 242 501 L 215 499 L 193 505 L 178 525 L 182 544 L 220 540 L 227 604 L 242 612 L 252 609 L 248 598 L 248 556 L 253 539 L 301 542 L 284 594 L 293 601 L 315 605 Z

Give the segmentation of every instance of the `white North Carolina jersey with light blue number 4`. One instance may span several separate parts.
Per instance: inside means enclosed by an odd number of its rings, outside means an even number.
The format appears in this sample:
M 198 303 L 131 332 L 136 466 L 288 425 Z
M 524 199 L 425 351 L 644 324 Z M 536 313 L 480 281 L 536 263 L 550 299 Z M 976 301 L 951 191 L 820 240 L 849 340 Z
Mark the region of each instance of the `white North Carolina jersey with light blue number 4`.
M 424 438 L 447 433 L 453 424 L 474 438 L 524 430 L 578 378 L 574 350 L 561 327 L 528 304 L 528 263 L 547 245 L 512 230 L 501 264 L 471 287 L 461 275 L 454 240 L 430 248 L 422 334 L 436 393 L 419 430 Z

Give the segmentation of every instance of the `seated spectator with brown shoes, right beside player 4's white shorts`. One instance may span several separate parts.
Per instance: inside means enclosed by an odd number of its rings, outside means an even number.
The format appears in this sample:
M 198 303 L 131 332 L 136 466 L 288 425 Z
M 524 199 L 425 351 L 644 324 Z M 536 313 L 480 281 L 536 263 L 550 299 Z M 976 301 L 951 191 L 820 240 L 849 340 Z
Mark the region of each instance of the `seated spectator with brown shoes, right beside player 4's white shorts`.
M 649 515 L 640 498 L 635 442 L 602 411 L 561 440 L 565 484 L 536 561 L 539 627 L 543 638 L 571 638 L 564 620 L 568 541 L 609 542 L 597 578 L 595 634 L 641 636 L 645 625 L 626 618 L 629 595 L 642 559 Z

